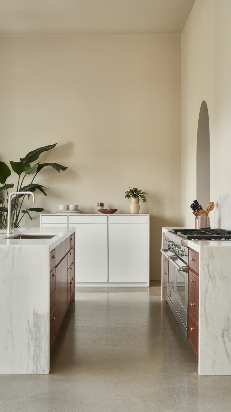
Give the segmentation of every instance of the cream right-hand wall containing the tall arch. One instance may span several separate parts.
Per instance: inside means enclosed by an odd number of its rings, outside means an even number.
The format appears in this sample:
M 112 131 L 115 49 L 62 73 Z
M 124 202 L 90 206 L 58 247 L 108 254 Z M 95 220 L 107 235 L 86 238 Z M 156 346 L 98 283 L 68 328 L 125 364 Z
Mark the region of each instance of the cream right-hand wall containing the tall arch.
M 194 225 L 189 206 L 196 198 L 196 139 L 203 100 L 210 121 L 210 200 L 216 193 L 231 192 L 230 16 L 230 1 L 196 0 L 182 33 L 182 223 L 186 226 Z M 213 212 L 210 215 L 213 222 Z

